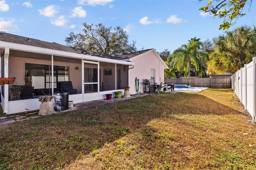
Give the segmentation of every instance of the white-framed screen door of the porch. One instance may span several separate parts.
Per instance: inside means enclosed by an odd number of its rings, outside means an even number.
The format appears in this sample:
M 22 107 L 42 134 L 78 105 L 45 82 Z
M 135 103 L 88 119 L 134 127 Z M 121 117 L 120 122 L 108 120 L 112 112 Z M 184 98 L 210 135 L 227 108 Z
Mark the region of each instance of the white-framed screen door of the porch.
M 98 93 L 98 62 L 84 61 L 84 93 Z

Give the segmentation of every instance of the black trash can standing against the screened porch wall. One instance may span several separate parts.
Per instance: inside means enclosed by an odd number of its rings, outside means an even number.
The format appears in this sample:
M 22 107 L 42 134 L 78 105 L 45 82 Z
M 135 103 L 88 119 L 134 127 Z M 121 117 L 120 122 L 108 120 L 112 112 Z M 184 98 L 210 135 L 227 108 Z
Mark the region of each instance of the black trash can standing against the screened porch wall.
M 65 111 L 68 109 L 69 91 L 57 91 L 53 93 L 56 111 Z

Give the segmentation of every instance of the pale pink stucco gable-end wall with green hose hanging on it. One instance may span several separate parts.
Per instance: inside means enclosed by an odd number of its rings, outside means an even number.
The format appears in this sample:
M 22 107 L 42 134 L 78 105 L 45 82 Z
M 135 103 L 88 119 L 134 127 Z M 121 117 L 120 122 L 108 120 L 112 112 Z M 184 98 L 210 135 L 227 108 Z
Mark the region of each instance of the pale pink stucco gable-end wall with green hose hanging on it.
M 133 69 L 129 70 L 129 85 L 130 94 L 136 94 L 135 79 L 139 79 L 139 91 L 144 93 L 145 79 L 150 79 L 150 70 L 155 69 L 155 82 L 160 84 L 161 81 L 164 82 L 164 64 L 158 58 L 154 51 L 146 53 L 137 58 L 134 58 L 132 62 L 135 63 Z M 141 87 L 141 88 L 140 88 Z

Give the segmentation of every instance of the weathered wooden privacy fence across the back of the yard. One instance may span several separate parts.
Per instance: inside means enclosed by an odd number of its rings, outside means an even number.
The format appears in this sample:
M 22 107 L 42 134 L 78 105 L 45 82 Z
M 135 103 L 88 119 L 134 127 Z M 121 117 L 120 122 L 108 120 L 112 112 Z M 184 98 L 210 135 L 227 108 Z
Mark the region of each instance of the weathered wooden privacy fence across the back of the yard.
M 188 85 L 188 79 L 164 79 L 164 84 Z M 190 78 L 192 87 L 211 87 L 218 89 L 230 89 L 232 86 L 231 77 L 213 77 L 213 78 Z

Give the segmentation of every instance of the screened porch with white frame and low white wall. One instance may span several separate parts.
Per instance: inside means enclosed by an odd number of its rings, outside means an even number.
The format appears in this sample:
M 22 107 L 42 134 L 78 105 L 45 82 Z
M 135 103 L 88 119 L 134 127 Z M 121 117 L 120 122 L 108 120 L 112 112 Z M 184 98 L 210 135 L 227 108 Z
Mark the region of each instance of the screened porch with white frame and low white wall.
M 53 95 L 59 90 L 58 82 L 72 83 L 77 93 L 70 94 L 69 100 L 74 104 L 104 99 L 105 94 L 114 94 L 114 91 L 129 85 L 128 71 L 134 66 L 132 62 L 30 39 L 30 43 L 33 41 L 37 46 L 5 42 L 1 38 L 1 77 L 16 77 L 14 83 L 1 85 L 1 104 L 5 114 L 38 110 L 38 97 L 48 93 Z M 40 43 L 53 47 L 42 47 Z M 13 85 L 33 90 L 12 97 L 10 88 Z

